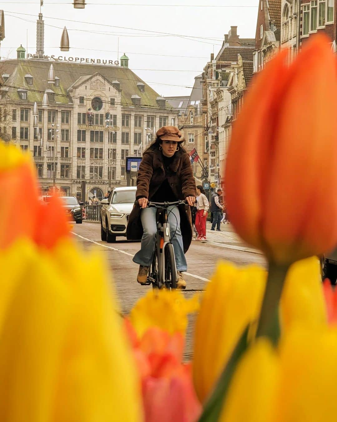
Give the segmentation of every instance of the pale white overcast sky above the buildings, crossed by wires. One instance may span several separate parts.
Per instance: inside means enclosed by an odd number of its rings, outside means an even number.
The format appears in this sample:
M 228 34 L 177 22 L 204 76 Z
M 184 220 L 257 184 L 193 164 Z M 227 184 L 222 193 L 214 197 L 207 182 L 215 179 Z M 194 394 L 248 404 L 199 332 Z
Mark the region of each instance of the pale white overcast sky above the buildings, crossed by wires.
M 110 0 L 108 5 L 102 4 L 108 0 L 87 1 L 85 9 L 74 9 L 71 0 L 44 1 L 45 54 L 118 60 L 125 52 L 130 59 L 129 67 L 163 96 L 190 94 L 190 89 L 185 87 L 193 86 L 194 76 L 203 71 L 213 46 L 215 53 L 219 51 L 223 36 L 231 25 L 238 26 L 241 38 L 254 38 L 259 3 L 258 0 Z M 173 6 L 168 7 L 170 4 Z M 208 6 L 204 7 L 205 4 Z M 28 53 L 35 53 L 40 1 L 0 0 L 0 8 L 5 11 L 5 39 L 1 43 L 1 58 L 16 58 L 16 49 L 20 44 L 27 49 L 27 30 Z M 70 39 L 70 51 L 67 52 L 59 49 L 64 26 Z M 143 30 L 212 39 L 197 38 L 195 41 Z M 183 57 L 165 57 L 162 54 Z

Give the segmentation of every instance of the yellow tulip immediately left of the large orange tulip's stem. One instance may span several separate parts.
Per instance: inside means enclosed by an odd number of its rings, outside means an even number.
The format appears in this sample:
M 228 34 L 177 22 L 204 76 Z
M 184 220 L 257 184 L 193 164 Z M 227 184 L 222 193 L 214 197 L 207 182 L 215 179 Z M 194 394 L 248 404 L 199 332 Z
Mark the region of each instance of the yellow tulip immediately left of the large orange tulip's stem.
M 193 378 L 203 402 L 246 325 L 257 318 L 266 273 L 222 263 L 207 285 L 195 325 Z

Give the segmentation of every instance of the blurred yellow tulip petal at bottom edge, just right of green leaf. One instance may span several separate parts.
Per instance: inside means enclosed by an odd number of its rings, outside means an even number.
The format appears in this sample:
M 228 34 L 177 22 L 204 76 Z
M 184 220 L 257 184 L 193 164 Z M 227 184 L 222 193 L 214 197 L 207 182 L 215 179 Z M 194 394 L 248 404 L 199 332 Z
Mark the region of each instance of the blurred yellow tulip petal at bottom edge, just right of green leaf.
M 272 421 L 278 383 L 278 357 L 269 341 L 259 338 L 235 370 L 219 422 Z

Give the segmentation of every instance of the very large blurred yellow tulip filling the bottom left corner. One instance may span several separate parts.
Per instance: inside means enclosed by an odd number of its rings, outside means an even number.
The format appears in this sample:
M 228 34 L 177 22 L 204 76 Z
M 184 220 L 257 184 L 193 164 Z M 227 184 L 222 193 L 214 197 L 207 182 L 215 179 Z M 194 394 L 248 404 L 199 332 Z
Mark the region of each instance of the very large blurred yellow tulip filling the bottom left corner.
M 139 380 L 107 274 L 88 277 L 104 263 L 71 242 L 59 248 L 18 241 L 0 255 L 1 419 L 142 421 Z

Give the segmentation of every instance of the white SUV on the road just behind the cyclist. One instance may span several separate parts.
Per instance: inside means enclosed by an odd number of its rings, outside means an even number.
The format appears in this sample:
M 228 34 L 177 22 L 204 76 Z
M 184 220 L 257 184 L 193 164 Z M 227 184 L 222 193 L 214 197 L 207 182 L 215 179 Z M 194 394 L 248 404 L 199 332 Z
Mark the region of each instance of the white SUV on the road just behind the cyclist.
M 116 236 L 126 236 L 126 225 L 136 200 L 136 187 L 115 187 L 109 198 L 101 201 L 101 239 L 115 242 Z

